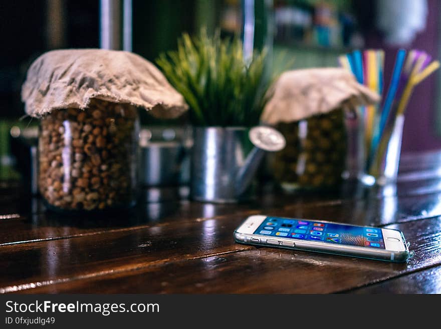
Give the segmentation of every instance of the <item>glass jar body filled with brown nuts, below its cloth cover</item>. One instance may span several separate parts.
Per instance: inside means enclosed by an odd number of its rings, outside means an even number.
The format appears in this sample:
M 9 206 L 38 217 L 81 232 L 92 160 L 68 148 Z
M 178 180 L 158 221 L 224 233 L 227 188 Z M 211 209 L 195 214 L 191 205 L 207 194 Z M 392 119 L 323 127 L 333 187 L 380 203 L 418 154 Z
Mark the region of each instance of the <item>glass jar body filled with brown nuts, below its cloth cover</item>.
M 139 121 L 136 107 L 92 100 L 42 118 L 39 190 L 50 208 L 104 210 L 136 201 Z

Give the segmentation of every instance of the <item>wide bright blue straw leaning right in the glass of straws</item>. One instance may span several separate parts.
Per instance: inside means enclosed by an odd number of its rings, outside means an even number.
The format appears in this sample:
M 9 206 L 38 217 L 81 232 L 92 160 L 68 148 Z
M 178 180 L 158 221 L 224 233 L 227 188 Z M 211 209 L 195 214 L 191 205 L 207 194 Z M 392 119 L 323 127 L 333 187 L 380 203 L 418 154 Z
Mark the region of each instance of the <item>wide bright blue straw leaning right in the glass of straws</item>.
M 381 112 L 380 123 L 378 125 L 378 130 L 376 131 L 373 139 L 372 139 L 372 147 L 370 160 L 372 161 L 372 157 L 374 152 L 377 149 L 378 143 L 380 141 L 381 135 L 383 133 L 384 126 L 386 125 L 387 117 L 389 116 L 390 109 L 392 107 L 393 99 L 395 97 L 396 90 L 398 88 L 399 78 L 401 75 L 401 69 L 403 67 L 404 59 L 406 57 L 406 51 L 404 49 L 400 49 L 396 54 L 395 65 L 393 67 L 392 79 L 390 81 L 389 89 L 387 90 L 386 100 L 384 101 L 383 111 Z

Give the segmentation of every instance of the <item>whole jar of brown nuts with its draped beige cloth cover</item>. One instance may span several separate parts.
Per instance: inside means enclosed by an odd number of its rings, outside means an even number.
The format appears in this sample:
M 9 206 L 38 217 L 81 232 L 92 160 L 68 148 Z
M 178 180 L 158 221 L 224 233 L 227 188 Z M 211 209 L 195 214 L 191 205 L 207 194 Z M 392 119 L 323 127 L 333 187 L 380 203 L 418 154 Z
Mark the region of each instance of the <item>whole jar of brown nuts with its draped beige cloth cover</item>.
M 39 57 L 22 88 L 26 113 L 41 119 L 39 189 L 50 206 L 102 210 L 133 204 L 138 114 L 175 118 L 183 97 L 140 56 L 58 50 Z

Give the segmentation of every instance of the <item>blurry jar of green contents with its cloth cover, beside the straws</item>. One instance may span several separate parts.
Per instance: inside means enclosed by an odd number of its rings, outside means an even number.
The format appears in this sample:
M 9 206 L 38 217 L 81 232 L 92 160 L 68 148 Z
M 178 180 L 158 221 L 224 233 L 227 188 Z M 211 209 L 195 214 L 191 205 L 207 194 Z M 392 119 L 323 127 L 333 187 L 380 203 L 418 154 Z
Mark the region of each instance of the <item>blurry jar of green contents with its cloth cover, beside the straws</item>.
M 345 111 L 375 104 L 379 96 L 338 68 L 285 72 L 271 92 L 261 119 L 287 140 L 270 161 L 276 179 L 288 190 L 338 185 L 346 161 Z

